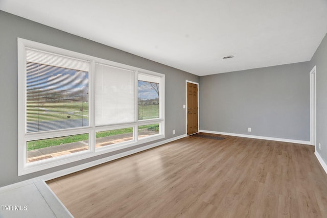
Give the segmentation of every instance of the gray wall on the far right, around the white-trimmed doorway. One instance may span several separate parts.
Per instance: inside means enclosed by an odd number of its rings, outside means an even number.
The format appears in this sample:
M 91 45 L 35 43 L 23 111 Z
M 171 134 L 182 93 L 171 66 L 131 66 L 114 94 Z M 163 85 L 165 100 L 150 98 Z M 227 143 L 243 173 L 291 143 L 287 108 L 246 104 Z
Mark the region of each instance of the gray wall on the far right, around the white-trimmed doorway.
M 327 163 L 327 35 L 310 61 L 310 69 L 314 66 L 316 66 L 316 150 Z

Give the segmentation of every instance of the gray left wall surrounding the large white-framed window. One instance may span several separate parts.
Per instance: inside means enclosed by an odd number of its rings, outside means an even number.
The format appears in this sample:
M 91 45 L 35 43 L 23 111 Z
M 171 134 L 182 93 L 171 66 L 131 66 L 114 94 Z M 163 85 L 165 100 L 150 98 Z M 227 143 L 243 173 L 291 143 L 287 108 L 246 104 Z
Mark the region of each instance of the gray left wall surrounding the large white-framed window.
M 166 139 L 185 134 L 185 80 L 198 76 L 0 11 L 0 187 L 114 154 L 17 176 L 17 37 L 165 74 Z

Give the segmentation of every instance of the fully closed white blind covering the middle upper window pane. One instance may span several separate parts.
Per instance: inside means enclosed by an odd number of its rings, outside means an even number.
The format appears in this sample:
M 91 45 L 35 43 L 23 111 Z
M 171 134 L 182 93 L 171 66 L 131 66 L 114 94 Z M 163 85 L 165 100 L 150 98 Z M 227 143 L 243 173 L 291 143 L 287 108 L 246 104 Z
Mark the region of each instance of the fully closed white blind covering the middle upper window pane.
M 96 126 L 135 122 L 135 72 L 96 63 Z

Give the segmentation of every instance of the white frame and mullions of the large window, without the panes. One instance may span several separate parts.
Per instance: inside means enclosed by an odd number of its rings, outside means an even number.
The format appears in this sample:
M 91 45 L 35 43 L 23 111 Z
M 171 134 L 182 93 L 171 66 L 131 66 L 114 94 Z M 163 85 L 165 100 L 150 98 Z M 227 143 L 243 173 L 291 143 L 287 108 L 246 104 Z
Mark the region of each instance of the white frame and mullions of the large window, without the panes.
M 17 52 L 18 52 L 18 176 L 26 175 L 34 172 L 48 169 L 51 167 L 71 163 L 78 160 L 83 160 L 90 157 L 95 157 L 101 154 L 126 149 L 138 144 L 151 142 L 154 140 L 165 138 L 165 75 L 158 72 L 133 67 L 113 61 L 84 55 L 81 53 L 60 49 L 51 45 L 46 45 L 31 40 L 17 38 Z M 45 52 L 51 52 L 60 54 L 63 56 L 78 58 L 87 60 L 90 62 L 89 71 L 89 126 L 72 129 L 51 130 L 42 132 L 26 133 L 26 47 L 42 50 Z M 119 67 L 123 69 L 132 70 L 135 73 L 135 121 L 128 124 L 115 124 L 106 126 L 95 126 L 95 105 L 94 105 L 94 75 L 95 75 L 95 63 L 103 63 L 113 67 Z M 137 80 L 138 74 L 145 74 L 149 76 L 155 76 L 160 78 L 159 86 L 159 118 L 138 120 L 138 106 L 137 106 Z M 160 131 L 158 134 L 138 139 L 138 126 L 156 124 L 159 123 Z M 133 128 L 133 140 L 125 141 L 121 143 L 112 144 L 110 146 L 104 146 L 96 149 L 96 132 Z M 45 138 L 54 138 L 67 135 L 76 134 L 89 134 L 89 150 L 72 153 L 69 155 L 63 155 L 44 160 L 38 160 L 35 162 L 27 163 L 27 141 L 38 140 Z

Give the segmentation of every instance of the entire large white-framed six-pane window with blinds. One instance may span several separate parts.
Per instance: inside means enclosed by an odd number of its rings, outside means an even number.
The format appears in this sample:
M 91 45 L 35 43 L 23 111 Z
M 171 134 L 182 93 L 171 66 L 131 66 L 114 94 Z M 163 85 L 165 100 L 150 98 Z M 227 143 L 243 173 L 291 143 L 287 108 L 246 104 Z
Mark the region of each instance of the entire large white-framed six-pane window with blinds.
M 18 39 L 18 175 L 164 138 L 164 82 Z

